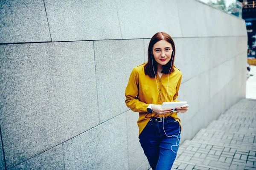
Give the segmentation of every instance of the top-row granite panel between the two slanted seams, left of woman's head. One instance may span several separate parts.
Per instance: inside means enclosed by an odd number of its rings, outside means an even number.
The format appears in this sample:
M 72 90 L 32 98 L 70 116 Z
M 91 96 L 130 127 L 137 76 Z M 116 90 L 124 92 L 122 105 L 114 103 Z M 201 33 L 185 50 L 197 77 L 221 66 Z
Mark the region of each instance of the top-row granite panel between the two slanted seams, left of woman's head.
M 115 0 L 44 0 L 52 41 L 122 39 Z

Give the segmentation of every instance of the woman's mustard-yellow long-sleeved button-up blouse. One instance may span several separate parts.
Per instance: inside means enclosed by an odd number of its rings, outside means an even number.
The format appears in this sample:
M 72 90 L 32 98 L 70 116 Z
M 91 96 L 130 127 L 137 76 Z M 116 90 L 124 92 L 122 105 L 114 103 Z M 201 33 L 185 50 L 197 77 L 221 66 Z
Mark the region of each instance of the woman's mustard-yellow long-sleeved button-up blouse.
M 155 78 L 145 75 L 145 64 L 146 63 L 139 65 L 132 70 L 125 90 L 125 103 L 127 107 L 131 108 L 134 112 L 139 112 L 139 119 L 137 121 L 139 126 L 139 135 L 151 117 L 163 117 L 163 115 L 158 115 L 157 113 L 147 113 L 149 104 L 162 105 L 163 102 L 179 102 L 179 100 L 177 100 L 177 96 L 182 77 L 180 70 L 174 67 L 175 72 L 170 72 L 169 75 L 168 94 L 166 99 L 168 74 L 163 74 L 160 78 L 156 73 L 156 82 Z M 161 95 L 157 90 L 157 85 L 160 93 L 162 94 L 163 102 Z M 164 116 L 172 116 L 180 123 L 180 118 L 177 116 L 176 112 L 165 114 Z

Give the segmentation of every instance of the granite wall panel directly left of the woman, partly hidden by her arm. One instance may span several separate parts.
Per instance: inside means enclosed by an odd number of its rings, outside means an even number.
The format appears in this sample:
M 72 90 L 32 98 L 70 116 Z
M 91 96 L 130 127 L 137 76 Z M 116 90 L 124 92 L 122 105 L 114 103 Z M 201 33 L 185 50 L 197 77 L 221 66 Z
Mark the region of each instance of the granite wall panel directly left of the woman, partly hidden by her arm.
M 95 41 L 99 120 L 128 111 L 125 88 L 131 71 L 144 63 L 143 40 Z

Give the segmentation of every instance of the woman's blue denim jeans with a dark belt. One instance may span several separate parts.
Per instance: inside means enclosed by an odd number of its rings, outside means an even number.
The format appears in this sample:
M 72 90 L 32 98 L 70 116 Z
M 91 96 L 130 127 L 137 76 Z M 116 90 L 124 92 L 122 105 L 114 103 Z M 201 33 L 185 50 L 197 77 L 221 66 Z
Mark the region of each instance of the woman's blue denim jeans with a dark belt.
M 175 136 L 168 137 L 166 135 Z M 172 168 L 180 144 L 179 122 L 170 116 L 165 117 L 162 122 L 155 122 L 151 119 L 139 139 L 153 170 L 170 170 Z

